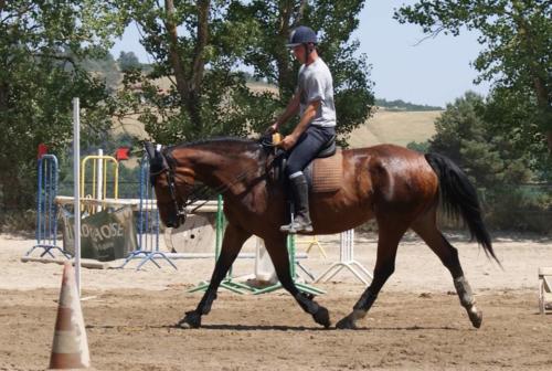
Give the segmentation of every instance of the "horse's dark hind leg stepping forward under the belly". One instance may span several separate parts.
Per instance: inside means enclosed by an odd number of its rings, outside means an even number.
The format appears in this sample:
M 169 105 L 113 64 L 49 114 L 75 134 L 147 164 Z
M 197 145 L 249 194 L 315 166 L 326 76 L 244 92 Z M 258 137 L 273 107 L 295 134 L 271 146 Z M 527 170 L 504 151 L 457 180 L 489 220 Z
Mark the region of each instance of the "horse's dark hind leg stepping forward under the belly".
M 355 328 L 357 320 L 367 315 L 368 310 L 370 310 L 378 298 L 381 288 L 395 271 L 396 248 L 404 232 L 406 232 L 407 223 L 400 223 L 397 220 L 386 218 L 385 221 L 379 219 L 378 225 L 378 257 L 374 267 L 374 278 L 364 293 L 362 293 L 353 310 L 336 325 L 337 328 Z

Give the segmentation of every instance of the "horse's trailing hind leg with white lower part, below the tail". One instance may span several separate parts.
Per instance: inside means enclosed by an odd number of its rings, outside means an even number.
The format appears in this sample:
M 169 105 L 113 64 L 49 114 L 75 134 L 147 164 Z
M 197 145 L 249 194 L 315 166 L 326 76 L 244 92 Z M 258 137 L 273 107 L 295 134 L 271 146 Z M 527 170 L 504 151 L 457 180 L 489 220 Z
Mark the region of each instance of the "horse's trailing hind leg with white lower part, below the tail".
M 448 268 L 454 279 L 456 293 L 460 299 L 460 304 L 468 312 L 469 319 L 474 327 L 481 326 L 482 314 L 475 305 L 474 294 L 468 280 L 464 276 L 464 272 L 458 258 L 458 251 L 450 245 L 440 231 L 436 226 L 435 210 L 422 215 L 413 223 L 412 229 L 422 240 L 437 254 L 440 262 Z

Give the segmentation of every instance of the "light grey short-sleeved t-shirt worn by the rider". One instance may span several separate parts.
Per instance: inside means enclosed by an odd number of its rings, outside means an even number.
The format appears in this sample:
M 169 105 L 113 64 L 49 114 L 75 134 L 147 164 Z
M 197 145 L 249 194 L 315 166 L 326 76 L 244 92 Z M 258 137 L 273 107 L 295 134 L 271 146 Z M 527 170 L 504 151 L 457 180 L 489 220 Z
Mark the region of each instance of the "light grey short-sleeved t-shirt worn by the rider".
M 300 93 L 300 114 L 311 102 L 320 100 L 320 106 L 310 125 L 336 126 L 336 107 L 333 106 L 333 78 L 331 72 L 321 57 L 317 57 L 309 65 L 301 65 L 297 92 Z

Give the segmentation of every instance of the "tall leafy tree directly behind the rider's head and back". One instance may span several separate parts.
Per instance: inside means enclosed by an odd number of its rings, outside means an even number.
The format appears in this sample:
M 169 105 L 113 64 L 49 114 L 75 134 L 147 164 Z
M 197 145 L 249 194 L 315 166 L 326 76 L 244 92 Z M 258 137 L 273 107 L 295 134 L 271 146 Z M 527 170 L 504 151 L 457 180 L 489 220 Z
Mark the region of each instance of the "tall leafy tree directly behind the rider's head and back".
M 364 1 L 360 0 L 340 1 L 339 7 L 327 0 L 236 1 L 231 9 L 231 19 L 251 18 L 255 21 L 258 36 L 247 45 L 244 63 L 253 67 L 255 77 L 277 84 L 277 106 L 280 108 L 294 92 L 299 67 L 285 47 L 289 33 L 299 24 L 318 31 L 319 54 L 333 75 L 337 131 L 346 136 L 365 121 L 373 105 L 367 56 L 354 56 L 359 41 L 350 40 L 359 25 L 358 14 L 363 4 Z

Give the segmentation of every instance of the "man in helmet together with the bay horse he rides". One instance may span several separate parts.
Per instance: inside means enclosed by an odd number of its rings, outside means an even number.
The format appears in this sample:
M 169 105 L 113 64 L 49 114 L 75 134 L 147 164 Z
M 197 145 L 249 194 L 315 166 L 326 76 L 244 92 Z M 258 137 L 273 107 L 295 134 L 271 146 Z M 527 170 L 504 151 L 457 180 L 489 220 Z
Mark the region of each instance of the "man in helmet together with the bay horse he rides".
M 412 230 L 449 271 L 461 306 L 471 325 L 479 328 L 482 314 L 476 306 L 458 251 L 437 225 L 439 204 L 450 216 L 461 218 L 484 251 L 497 262 L 498 258 L 482 220 L 477 190 L 452 160 L 438 153 L 420 153 L 393 145 L 343 150 L 338 171 L 342 179 L 339 189 L 312 192 L 309 213 L 302 169 L 335 135 L 336 114 L 331 74 L 316 53 L 316 34 L 308 28 L 298 28 L 290 39 L 294 53 L 302 63 L 298 87 L 284 114 L 269 128 L 276 130 L 300 109 L 299 124 L 280 144 L 286 150 L 293 149 L 287 176 L 297 203 L 297 218 L 283 225 L 284 231 L 279 229 L 286 221 L 285 190 L 280 182 L 270 181 L 266 173 L 268 153 L 259 142 L 219 138 L 164 148 L 146 142 L 159 215 L 167 226 L 178 227 L 183 223 L 187 206 L 197 197 L 197 181 L 221 193 L 224 200 L 227 224 L 221 254 L 208 290 L 197 308 L 185 312 L 179 326 L 201 326 L 202 317 L 211 311 L 216 290 L 243 244 L 256 235 L 264 240 L 282 286 L 317 324 L 329 327 L 328 309 L 300 292 L 294 282 L 286 233 L 333 234 L 374 219 L 378 253 L 373 280 L 352 311 L 336 327 L 355 328 L 357 322 L 367 316 L 395 269 L 399 243 L 406 231 Z

